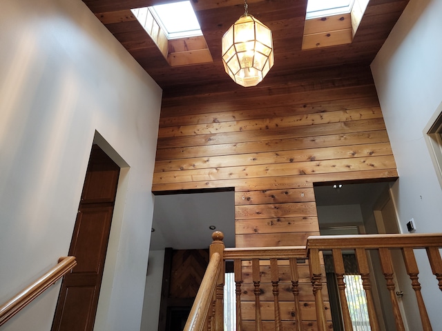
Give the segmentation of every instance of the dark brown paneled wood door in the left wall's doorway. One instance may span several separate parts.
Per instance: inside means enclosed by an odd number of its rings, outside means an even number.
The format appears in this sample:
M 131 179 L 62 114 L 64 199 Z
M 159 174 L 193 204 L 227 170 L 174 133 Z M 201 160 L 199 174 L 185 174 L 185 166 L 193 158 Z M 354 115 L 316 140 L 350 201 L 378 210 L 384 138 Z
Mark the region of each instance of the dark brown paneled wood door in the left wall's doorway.
M 94 146 L 69 249 L 77 266 L 61 284 L 52 330 L 93 330 L 118 175 L 119 167 Z

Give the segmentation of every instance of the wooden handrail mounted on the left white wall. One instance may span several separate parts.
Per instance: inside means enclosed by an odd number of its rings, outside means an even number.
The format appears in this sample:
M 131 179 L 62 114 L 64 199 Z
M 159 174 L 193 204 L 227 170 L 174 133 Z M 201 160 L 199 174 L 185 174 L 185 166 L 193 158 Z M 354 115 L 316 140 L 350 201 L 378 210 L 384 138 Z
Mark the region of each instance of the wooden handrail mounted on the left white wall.
M 77 265 L 75 257 L 60 257 L 54 268 L 0 306 L 0 326 L 49 288 L 50 285 L 63 277 L 64 274 L 67 274 L 75 265 Z

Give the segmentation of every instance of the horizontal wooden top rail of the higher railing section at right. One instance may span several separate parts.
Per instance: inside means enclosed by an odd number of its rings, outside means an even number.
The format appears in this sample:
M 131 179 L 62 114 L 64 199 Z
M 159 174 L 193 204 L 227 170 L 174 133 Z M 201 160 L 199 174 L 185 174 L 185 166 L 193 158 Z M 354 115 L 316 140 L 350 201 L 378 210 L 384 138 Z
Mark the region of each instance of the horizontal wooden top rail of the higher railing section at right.
M 307 238 L 307 251 L 333 248 L 427 248 L 442 247 L 442 233 L 432 234 L 354 234 L 337 236 L 311 236 Z

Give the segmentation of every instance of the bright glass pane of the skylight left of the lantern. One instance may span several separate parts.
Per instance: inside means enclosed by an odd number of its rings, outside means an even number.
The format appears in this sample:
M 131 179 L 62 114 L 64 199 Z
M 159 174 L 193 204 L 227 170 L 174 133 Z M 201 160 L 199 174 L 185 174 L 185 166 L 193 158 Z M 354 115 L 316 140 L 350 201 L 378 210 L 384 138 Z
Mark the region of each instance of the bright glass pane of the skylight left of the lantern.
M 166 3 L 149 7 L 149 10 L 164 28 L 168 39 L 202 35 L 191 1 Z

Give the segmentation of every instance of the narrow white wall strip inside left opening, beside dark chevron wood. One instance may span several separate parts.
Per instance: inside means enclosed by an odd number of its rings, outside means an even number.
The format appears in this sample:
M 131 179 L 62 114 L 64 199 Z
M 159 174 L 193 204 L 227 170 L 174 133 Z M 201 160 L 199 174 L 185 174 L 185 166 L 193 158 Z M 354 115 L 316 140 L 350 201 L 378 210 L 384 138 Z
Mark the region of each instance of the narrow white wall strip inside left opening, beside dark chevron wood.
M 164 270 L 164 252 L 164 250 L 151 250 L 149 252 L 141 331 L 158 330 Z

